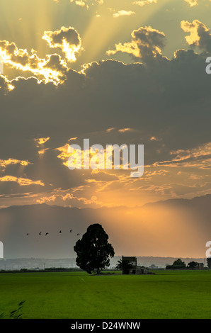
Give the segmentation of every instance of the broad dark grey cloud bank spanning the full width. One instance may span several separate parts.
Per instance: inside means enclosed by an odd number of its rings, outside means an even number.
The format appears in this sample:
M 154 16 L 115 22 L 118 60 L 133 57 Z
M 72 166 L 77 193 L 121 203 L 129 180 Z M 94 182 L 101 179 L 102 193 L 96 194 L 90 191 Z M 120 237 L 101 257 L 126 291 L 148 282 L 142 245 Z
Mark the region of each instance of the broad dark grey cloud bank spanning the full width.
M 101 132 L 112 125 L 164 137 L 171 137 L 168 129 L 172 129 L 175 135 L 178 131 L 183 139 L 188 139 L 187 132 L 196 125 L 195 116 L 200 116 L 202 125 L 197 125 L 203 127 L 199 132 L 205 137 L 209 84 L 205 58 L 191 50 L 180 50 L 173 60 L 152 69 L 111 60 L 92 63 L 84 69 L 84 74 L 69 70 L 67 81 L 58 88 L 38 84 L 37 79 L 20 78 L 13 81 L 15 88 L 9 94 L 4 95 L 1 89 L 1 135 L 18 140 L 50 137 L 47 143 L 57 142 L 59 147 L 65 143 L 64 139 L 85 132 Z M 192 126 L 183 128 L 187 123 Z M 134 137 L 135 133 L 130 135 Z M 195 135 L 191 138 L 193 145 Z M 5 152 L 1 158 L 12 157 L 9 155 L 16 151 L 13 139 L 6 140 L 1 147 Z M 24 145 L 32 144 L 28 140 Z

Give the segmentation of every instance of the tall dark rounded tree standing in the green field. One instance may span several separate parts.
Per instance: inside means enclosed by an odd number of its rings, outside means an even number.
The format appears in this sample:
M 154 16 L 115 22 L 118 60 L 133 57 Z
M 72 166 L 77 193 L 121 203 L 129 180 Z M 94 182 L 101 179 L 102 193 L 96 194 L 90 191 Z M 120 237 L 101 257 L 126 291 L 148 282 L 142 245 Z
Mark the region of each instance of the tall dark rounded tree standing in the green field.
M 90 225 L 74 251 L 77 254 L 76 264 L 87 273 L 100 273 L 101 269 L 110 265 L 110 256 L 114 256 L 114 249 L 108 243 L 108 235 L 98 223 Z

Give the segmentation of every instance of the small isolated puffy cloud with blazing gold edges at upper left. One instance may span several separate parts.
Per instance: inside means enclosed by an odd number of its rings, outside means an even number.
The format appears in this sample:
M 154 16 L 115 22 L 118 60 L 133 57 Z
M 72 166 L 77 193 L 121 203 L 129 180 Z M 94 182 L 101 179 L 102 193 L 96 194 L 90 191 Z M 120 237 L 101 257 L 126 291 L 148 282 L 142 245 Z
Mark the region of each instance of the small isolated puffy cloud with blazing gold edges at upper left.
M 81 38 L 79 33 L 72 27 L 45 31 L 42 39 L 46 40 L 50 47 L 62 50 L 69 62 L 76 61 L 76 53 L 81 50 Z

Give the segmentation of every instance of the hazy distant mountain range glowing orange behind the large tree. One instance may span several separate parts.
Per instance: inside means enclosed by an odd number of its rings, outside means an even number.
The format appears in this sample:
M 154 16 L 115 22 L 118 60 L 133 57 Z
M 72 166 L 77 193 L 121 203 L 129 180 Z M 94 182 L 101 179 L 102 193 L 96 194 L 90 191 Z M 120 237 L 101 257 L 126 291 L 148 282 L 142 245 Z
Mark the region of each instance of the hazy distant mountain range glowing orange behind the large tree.
M 0 240 L 4 259 L 74 258 L 76 240 L 89 225 L 98 222 L 108 233 L 116 256 L 203 259 L 205 244 L 211 240 L 210 217 L 211 194 L 139 208 L 19 205 L 0 210 Z

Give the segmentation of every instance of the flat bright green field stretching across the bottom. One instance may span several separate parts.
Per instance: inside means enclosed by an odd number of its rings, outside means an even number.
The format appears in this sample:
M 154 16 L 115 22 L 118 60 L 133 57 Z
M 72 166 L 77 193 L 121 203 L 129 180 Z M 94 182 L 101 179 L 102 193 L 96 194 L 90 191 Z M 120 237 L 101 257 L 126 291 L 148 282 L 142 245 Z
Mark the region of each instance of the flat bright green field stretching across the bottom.
M 1 273 L 0 314 L 22 300 L 23 319 L 211 318 L 211 271 Z

